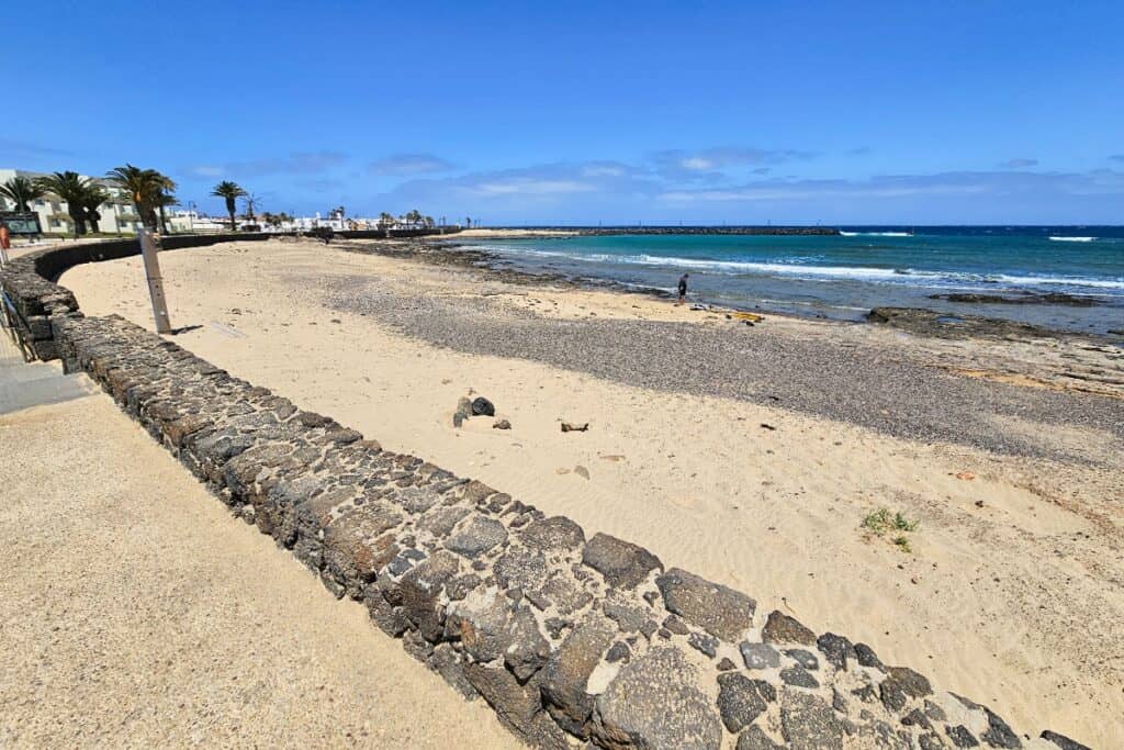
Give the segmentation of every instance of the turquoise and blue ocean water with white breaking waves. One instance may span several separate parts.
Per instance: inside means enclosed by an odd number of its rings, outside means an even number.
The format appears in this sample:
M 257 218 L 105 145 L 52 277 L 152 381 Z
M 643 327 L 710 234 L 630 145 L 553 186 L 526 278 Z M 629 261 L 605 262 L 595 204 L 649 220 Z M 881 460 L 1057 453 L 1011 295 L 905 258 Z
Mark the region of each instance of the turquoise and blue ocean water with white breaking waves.
M 463 241 L 535 273 L 672 291 L 743 309 L 861 319 L 925 307 L 1054 328 L 1124 328 L 1124 227 L 842 227 L 841 236 L 611 235 Z M 1097 302 L 995 305 L 933 295 L 1063 292 Z

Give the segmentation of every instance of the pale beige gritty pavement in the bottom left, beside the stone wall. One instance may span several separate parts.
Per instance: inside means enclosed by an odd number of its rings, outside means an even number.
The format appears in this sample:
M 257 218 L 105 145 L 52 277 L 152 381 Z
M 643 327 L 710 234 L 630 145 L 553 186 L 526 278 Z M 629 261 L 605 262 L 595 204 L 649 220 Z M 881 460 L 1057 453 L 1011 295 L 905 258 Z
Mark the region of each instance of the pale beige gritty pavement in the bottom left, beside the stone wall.
M 107 396 L 0 416 L 0 747 L 520 747 Z

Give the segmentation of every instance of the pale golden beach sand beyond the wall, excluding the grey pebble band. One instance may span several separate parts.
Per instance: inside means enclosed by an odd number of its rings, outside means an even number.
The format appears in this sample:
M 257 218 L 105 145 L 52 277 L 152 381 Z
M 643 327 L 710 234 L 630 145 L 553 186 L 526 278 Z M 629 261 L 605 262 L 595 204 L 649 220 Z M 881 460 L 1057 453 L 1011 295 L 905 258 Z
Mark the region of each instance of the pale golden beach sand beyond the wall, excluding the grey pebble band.
M 867 641 L 888 663 L 1019 728 L 1124 746 L 1118 471 L 922 445 L 780 408 L 438 350 L 328 308 L 317 282 L 377 274 L 398 291 L 497 295 L 538 315 L 698 318 L 642 297 L 481 282 L 315 243 L 223 245 L 161 262 L 173 324 L 202 326 L 175 341 L 233 373 L 589 532 L 642 543 L 755 596 L 763 612 Z M 88 314 L 152 326 L 138 259 L 82 266 L 62 283 Z M 763 325 L 882 336 L 887 346 L 908 338 L 872 326 Z M 952 346 L 975 359 L 967 344 Z M 514 428 L 473 418 L 454 430 L 456 399 L 470 388 Z M 562 434 L 560 418 L 591 428 Z M 1118 455 L 1104 434 L 1007 426 Z M 975 478 L 957 477 L 966 471 Z M 921 519 L 914 555 L 863 533 L 862 517 L 879 506 Z

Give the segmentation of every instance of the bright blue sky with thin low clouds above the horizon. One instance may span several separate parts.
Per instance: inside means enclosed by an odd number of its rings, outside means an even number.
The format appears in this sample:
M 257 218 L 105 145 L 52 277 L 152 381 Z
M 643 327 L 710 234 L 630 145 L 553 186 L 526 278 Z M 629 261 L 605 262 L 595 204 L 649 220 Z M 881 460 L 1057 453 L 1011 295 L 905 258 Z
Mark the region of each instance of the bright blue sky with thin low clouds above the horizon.
M 139 8 L 6 9 L 0 166 L 215 213 L 1124 223 L 1118 2 Z

